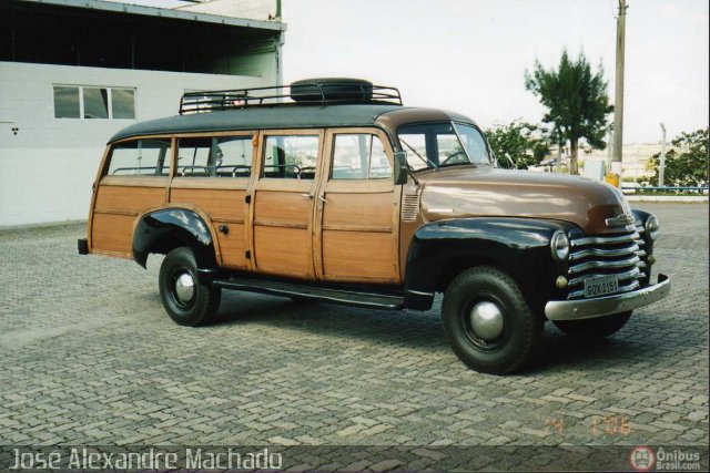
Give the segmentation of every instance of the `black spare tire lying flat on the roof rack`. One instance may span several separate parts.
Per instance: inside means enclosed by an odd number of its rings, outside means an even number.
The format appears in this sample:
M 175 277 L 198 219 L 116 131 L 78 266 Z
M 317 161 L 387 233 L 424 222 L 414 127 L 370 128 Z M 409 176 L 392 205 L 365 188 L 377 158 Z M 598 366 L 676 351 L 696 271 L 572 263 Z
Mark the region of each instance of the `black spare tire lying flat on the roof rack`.
M 291 99 L 295 102 L 321 102 L 324 96 L 331 101 L 368 102 L 373 97 L 373 84 L 347 78 L 304 79 L 291 84 Z

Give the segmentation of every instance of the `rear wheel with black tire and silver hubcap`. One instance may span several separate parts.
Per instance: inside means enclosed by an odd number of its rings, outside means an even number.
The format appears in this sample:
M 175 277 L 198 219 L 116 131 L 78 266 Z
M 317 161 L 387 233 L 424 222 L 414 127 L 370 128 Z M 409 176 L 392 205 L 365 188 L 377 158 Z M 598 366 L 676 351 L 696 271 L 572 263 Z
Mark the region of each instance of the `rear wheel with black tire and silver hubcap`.
M 158 285 L 163 307 L 178 325 L 196 327 L 205 323 L 220 307 L 221 290 L 200 282 L 195 257 L 190 248 L 175 248 L 165 256 Z

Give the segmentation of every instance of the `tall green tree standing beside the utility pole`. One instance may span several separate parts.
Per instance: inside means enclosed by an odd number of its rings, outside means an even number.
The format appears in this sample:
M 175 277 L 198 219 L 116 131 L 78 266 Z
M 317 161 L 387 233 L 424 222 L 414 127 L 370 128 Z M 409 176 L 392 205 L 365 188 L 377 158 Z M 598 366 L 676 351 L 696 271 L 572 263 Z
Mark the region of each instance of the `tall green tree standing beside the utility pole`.
M 569 171 L 579 174 L 579 140 L 598 150 L 606 147 L 607 115 L 613 106 L 609 105 L 604 68 L 600 64 L 592 73 L 584 53 L 571 61 L 567 51 L 562 51 L 557 70 L 546 70 L 536 60 L 532 72 L 525 71 L 525 88 L 547 107 L 542 122 L 551 125 L 557 143 L 569 141 Z

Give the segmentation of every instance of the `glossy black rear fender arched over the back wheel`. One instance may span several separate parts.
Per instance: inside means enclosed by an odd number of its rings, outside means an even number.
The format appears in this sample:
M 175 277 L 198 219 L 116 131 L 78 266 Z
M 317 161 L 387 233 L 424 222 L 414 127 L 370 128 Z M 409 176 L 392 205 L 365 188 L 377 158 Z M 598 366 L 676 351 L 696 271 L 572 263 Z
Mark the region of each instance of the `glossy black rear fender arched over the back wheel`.
M 133 233 L 133 259 L 145 267 L 150 253 L 161 253 L 168 243 L 175 241 L 192 249 L 199 268 L 216 266 L 210 227 L 197 213 L 186 208 L 163 208 L 143 215 Z

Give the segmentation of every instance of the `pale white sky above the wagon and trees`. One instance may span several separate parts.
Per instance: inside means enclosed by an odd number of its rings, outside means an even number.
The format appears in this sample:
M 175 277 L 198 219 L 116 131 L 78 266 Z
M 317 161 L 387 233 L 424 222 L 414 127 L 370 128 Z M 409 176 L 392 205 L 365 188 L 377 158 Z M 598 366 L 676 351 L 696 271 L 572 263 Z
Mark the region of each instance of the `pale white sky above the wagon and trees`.
M 669 137 L 707 127 L 709 2 L 628 6 L 625 143 L 659 142 L 661 122 Z M 284 83 L 362 78 L 484 127 L 539 123 L 525 71 L 536 59 L 555 66 L 567 49 L 604 68 L 613 101 L 617 0 L 283 0 L 282 10 Z

